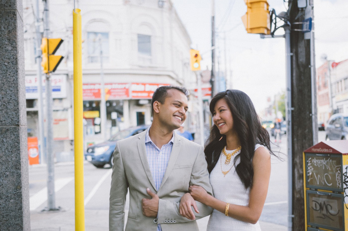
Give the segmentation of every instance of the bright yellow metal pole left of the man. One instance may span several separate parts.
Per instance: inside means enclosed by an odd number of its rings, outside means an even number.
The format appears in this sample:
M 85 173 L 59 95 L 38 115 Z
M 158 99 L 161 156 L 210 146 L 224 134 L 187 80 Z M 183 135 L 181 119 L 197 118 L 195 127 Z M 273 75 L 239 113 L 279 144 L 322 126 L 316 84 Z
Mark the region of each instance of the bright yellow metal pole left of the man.
M 74 147 L 75 147 L 75 230 L 85 231 L 84 127 L 82 99 L 81 10 L 73 12 L 74 37 Z

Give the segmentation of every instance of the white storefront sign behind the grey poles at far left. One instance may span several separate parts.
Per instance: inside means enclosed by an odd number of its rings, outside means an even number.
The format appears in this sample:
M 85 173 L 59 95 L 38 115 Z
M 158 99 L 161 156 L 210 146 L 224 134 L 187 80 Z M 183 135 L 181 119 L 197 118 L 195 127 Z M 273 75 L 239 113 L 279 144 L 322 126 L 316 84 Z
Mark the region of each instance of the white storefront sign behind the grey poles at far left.
M 62 99 L 67 97 L 67 76 L 51 75 L 52 98 Z M 36 75 L 25 76 L 25 98 L 37 99 L 39 79 Z M 42 76 L 42 92 L 45 93 L 46 77 Z M 43 94 L 45 96 L 45 94 Z

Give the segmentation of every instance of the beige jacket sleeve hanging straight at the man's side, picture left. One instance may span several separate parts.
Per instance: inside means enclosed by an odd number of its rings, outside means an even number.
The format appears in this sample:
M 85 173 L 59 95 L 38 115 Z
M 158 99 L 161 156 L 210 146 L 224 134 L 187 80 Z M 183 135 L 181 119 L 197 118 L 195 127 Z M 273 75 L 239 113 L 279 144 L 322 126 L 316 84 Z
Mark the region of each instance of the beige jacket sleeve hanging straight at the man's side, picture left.
M 109 231 L 123 231 L 128 181 L 124 171 L 119 142 L 117 142 L 112 155 L 114 159 L 110 189 Z

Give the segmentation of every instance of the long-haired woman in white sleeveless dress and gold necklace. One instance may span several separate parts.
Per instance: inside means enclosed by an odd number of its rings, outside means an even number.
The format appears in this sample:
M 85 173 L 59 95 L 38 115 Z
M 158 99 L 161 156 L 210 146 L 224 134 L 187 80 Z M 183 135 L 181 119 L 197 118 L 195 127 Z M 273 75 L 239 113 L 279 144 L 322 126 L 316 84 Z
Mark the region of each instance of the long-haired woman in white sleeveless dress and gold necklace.
M 214 125 L 204 149 L 214 197 L 191 185 L 180 214 L 195 219 L 195 202 L 212 207 L 207 231 L 259 231 L 270 176 L 269 134 L 244 92 L 227 90 L 210 103 Z

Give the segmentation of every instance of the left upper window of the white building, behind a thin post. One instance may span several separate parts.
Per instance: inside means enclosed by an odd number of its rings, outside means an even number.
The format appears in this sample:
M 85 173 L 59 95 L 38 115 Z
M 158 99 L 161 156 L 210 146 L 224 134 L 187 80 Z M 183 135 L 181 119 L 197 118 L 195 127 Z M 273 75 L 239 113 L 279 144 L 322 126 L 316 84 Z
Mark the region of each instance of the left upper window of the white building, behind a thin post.
M 109 61 L 109 33 L 87 32 L 88 62 Z

